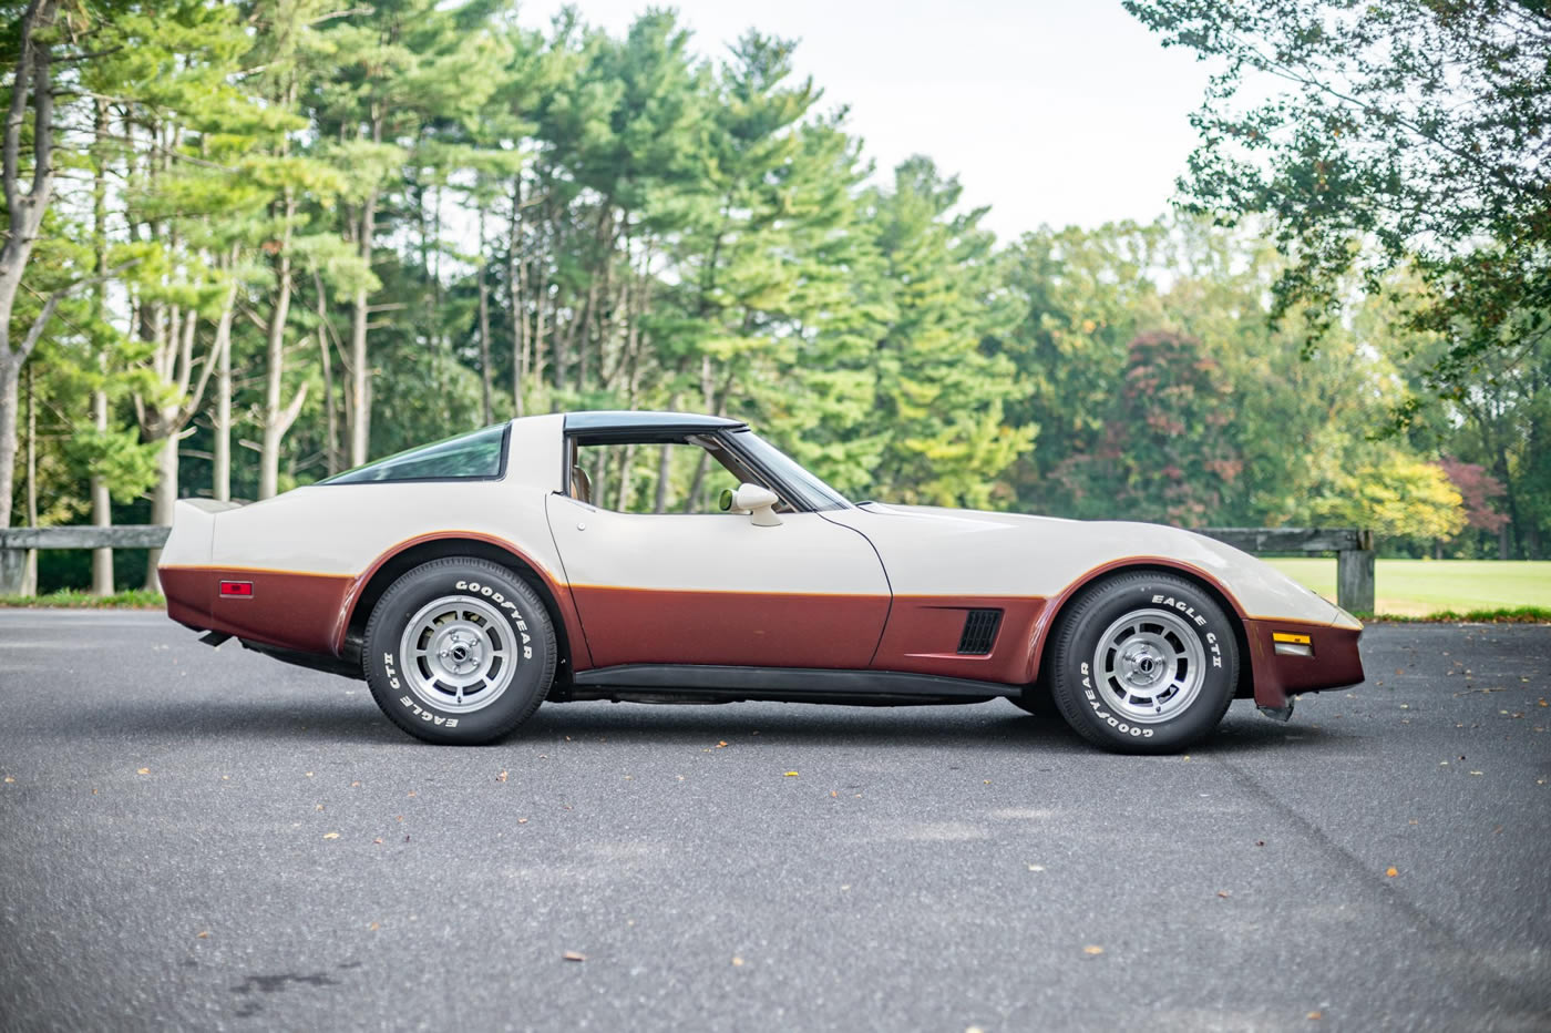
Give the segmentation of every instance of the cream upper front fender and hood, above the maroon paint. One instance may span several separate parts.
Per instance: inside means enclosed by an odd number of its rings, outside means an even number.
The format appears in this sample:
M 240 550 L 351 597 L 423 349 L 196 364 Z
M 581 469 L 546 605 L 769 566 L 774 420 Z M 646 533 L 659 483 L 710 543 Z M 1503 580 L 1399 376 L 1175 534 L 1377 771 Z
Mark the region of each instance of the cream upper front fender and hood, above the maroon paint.
M 1269 563 L 1166 524 L 883 503 L 825 516 L 873 543 L 895 594 L 1056 597 L 1103 568 L 1159 561 L 1214 582 L 1249 617 L 1356 624 Z

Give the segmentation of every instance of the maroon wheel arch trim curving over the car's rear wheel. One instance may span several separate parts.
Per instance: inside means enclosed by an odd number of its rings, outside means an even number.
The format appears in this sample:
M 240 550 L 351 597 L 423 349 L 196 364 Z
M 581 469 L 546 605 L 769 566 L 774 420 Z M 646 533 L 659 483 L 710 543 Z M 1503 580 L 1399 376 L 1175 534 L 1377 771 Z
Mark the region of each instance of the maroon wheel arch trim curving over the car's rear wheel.
M 472 557 L 498 563 L 523 579 L 538 594 L 549 624 L 555 630 L 555 645 L 560 650 L 555 665 L 557 678 L 569 678 L 579 665 L 591 665 L 585 653 L 586 639 L 582 636 L 582 625 L 577 620 L 575 606 L 571 603 L 571 593 L 551 580 L 538 563 L 534 563 L 512 543 L 468 532 L 422 535 L 380 555 L 351 588 L 340 627 L 335 630 L 333 651 L 347 659 L 358 658 L 366 622 L 383 593 L 414 568 L 450 557 Z M 575 653 L 579 648 L 582 650 L 580 656 Z

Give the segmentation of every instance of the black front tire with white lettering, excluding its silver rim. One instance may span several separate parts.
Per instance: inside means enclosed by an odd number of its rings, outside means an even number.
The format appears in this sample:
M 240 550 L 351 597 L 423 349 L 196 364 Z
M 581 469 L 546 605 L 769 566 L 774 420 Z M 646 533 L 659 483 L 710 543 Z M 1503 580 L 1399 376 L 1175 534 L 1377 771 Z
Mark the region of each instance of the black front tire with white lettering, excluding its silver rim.
M 1166 610 L 1196 634 L 1207 659 L 1205 678 L 1183 712 L 1155 724 L 1115 713 L 1092 670 L 1098 639 L 1128 613 Z M 1238 647 L 1231 619 L 1190 582 L 1159 575 L 1128 575 L 1089 589 L 1056 639 L 1053 689 L 1061 713 L 1086 738 L 1128 752 L 1171 752 L 1216 729 L 1238 689 Z

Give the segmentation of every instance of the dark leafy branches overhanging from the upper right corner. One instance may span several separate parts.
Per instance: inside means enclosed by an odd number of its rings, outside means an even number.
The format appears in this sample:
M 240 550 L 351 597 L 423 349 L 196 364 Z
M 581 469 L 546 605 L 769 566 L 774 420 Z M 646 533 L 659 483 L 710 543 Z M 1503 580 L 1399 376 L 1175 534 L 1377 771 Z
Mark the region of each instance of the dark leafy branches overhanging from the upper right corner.
M 1270 217 L 1294 256 L 1273 315 L 1332 329 L 1348 273 L 1415 268 L 1422 371 L 1464 397 L 1478 366 L 1551 333 L 1551 17 L 1504 0 L 1126 0 L 1219 71 L 1194 118 L 1187 208 Z M 1416 414 L 1416 399 L 1399 420 Z

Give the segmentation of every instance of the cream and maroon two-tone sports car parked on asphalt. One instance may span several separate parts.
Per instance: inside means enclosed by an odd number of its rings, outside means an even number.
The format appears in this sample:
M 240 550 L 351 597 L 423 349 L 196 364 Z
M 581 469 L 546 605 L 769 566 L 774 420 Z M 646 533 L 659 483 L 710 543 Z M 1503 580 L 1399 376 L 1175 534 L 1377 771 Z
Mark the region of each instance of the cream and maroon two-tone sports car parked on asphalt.
M 203 641 L 364 678 L 433 743 L 544 700 L 1005 696 L 1166 752 L 1236 696 L 1286 720 L 1363 678 L 1351 614 L 1210 538 L 851 503 L 679 413 L 534 416 L 253 506 L 188 499 L 161 583 Z

